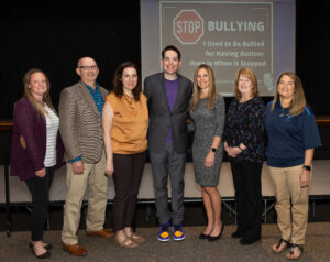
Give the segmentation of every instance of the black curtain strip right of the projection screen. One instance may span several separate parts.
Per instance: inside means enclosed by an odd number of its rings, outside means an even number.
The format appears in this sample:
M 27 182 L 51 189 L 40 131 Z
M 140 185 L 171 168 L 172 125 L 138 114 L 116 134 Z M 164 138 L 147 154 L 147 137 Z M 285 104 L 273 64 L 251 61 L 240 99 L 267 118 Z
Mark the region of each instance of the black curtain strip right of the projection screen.
M 326 2 L 296 1 L 296 72 L 316 114 L 330 114 L 330 30 Z

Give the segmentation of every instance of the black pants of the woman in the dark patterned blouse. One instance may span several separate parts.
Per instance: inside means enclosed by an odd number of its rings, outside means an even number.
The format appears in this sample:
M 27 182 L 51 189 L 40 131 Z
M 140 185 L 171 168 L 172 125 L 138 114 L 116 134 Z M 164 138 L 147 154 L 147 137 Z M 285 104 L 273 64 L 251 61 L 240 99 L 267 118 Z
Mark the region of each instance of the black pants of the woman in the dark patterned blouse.
M 231 162 L 238 210 L 238 232 L 246 240 L 261 238 L 262 163 Z

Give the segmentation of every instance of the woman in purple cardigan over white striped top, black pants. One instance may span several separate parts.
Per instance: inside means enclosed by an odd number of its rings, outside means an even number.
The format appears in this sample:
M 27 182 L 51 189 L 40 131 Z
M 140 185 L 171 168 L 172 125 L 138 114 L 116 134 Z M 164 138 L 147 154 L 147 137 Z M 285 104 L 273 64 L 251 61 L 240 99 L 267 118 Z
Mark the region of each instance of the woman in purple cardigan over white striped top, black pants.
M 50 97 L 50 81 L 40 69 L 24 78 L 24 97 L 14 105 L 11 175 L 24 181 L 32 195 L 31 240 L 38 259 L 51 255 L 52 244 L 43 241 L 43 229 L 55 168 L 63 164 L 58 117 Z

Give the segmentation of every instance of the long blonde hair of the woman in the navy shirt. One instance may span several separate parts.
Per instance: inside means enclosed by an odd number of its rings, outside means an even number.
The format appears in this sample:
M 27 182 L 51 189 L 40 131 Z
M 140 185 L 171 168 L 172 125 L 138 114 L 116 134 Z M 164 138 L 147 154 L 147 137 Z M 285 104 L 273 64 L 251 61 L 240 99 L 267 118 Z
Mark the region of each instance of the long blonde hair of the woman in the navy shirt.
M 283 76 L 288 76 L 295 81 L 295 92 L 294 92 L 292 105 L 288 109 L 288 113 L 293 117 L 298 116 L 301 112 L 304 112 L 305 107 L 306 107 L 306 98 L 305 98 L 305 94 L 304 94 L 304 89 L 302 89 L 302 84 L 301 84 L 299 77 L 295 73 L 285 72 L 278 77 L 276 87 L 278 87 L 278 84 Z M 278 88 L 276 88 L 276 94 L 274 96 L 273 103 L 271 107 L 272 112 L 274 111 L 275 105 L 278 99 L 279 99 L 279 94 L 278 94 Z

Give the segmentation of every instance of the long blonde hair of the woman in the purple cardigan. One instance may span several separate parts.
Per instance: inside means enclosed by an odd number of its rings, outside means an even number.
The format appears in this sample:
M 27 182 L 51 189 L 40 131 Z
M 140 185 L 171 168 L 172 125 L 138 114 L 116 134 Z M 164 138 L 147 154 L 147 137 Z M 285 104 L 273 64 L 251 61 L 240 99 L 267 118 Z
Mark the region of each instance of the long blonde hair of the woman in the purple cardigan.
M 54 111 L 54 113 L 56 113 L 56 110 L 53 107 L 53 103 L 52 103 L 52 100 L 51 100 L 51 96 L 50 96 L 51 84 L 50 84 L 48 77 L 41 69 L 38 69 L 38 68 L 32 68 L 32 69 L 30 69 L 30 70 L 28 70 L 25 73 L 25 75 L 23 77 L 24 97 L 26 97 L 29 99 L 29 101 L 31 102 L 32 107 L 35 109 L 35 111 L 40 116 L 44 117 L 45 114 L 48 114 L 47 111 L 46 111 L 46 109 L 45 109 L 45 107 L 34 98 L 34 96 L 31 92 L 31 89 L 29 88 L 29 85 L 30 85 L 30 81 L 31 81 L 31 77 L 35 73 L 42 73 L 45 76 L 46 84 L 47 84 L 47 91 L 44 94 L 43 101 Z

